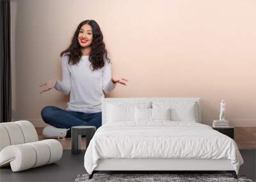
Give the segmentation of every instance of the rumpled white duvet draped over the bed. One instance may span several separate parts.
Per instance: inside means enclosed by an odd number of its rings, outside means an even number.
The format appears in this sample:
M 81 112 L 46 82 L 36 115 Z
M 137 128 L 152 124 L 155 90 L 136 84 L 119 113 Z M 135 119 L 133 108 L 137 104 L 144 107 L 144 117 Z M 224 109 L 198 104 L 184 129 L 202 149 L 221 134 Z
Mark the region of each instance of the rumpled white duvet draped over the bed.
M 89 174 L 99 159 L 193 158 L 229 159 L 238 174 L 243 158 L 236 142 L 200 123 L 154 121 L 115 122 L 101 126 L 84 155 Z

